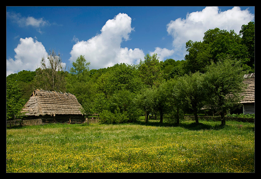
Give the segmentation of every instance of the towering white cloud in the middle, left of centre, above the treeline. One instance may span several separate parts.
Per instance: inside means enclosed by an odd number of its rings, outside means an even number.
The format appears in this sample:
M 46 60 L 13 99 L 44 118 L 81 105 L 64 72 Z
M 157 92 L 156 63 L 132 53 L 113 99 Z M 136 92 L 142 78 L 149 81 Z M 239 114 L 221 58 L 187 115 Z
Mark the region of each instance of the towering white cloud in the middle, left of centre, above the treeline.
M 72 47 L 70 61 L 84 55 L 86 61 L 91 62 L 90 69 L 107 68 L 116 63 L 135 64 L 144 58 L 140 49 L 122 48 L 121 42 L 130 40 L 131 18 L 127 14 L 119 13 L 108 20 L 101 29 L 101 33 L 88 41 L 78 41 Z

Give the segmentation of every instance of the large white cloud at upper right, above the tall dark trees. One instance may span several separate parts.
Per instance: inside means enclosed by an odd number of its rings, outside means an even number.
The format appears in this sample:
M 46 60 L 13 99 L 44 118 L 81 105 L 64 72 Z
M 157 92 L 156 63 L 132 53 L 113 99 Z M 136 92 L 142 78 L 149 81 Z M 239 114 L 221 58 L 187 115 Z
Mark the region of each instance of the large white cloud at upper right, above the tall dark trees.
M 185 19 L 178 18 L 167 24 L 167 32 L 173 37 L 175 55 L 183 59 L 186 54 L 185 44 L 188 40 L 202 41 L 209 29 L 235 30 L 239 34 L 241 26 L 254 21 L 255 15 L 240 7 L 220 11 L 218 7 L 205 7 L 202 11 L 192 12 Z

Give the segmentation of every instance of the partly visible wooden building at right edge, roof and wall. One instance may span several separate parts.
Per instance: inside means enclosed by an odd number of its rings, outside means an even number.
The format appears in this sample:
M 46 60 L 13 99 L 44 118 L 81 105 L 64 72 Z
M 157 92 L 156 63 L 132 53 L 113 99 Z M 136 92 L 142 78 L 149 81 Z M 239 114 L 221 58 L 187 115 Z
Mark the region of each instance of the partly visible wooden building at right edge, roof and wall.
M 244 114 L 255 114 L 255 73 L 244 75 L 244 84 L 247 88 L 242 93 L 244 98 L 240 101 L 243 104 Z

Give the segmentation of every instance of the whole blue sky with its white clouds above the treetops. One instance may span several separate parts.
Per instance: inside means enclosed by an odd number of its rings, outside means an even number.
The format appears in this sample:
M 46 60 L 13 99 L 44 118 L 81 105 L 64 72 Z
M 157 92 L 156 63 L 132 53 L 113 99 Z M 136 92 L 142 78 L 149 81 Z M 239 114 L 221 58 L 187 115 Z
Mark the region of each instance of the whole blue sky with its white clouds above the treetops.
M 137 64 L 149 53 L 184 60 L 185 43 L 208 29 L 255 21 L 254 6 L 6 7 L 6 76 L 35 71 L 49 49 L 66 67 L 84 55 L 90 69 Z

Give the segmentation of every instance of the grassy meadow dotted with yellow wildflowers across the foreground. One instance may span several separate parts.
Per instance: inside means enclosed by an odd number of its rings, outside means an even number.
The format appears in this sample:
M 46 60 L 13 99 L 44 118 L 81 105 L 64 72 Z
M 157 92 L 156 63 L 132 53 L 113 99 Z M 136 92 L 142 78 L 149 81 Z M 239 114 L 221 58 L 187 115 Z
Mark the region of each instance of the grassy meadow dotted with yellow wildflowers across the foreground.
M 140 121 L 6 129 L 6 172 L 255 172 L 254 127 Z

